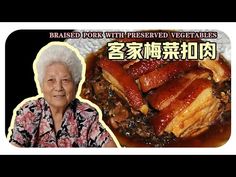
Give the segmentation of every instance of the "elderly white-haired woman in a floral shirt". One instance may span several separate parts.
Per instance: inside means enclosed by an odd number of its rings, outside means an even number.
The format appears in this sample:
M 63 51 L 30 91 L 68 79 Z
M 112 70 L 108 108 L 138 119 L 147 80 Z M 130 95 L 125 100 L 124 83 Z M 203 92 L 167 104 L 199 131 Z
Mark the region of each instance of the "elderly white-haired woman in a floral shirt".
M 116 147 L 97 110 L 75 98 L 82 75 L 76 53 L 58 43 L 40 52 L 35 76 L 43 97 L 16 111 L 10 142 L 19 147 Z

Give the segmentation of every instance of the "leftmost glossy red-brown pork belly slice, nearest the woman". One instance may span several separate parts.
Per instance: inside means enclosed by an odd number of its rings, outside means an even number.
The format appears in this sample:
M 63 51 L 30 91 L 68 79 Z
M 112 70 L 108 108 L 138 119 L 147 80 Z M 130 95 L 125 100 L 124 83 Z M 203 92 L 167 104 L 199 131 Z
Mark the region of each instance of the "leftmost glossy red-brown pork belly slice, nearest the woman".
M 98 61 L 98 65 L 102 68 L 103 77 L 111 83 L 112 89 L 116 91 L 119 96 L 124 97 L 133 109 L 147 114 L 148 106 L 135 80 L 127 74 L 122 66 L 106 58 L 101 58 Z

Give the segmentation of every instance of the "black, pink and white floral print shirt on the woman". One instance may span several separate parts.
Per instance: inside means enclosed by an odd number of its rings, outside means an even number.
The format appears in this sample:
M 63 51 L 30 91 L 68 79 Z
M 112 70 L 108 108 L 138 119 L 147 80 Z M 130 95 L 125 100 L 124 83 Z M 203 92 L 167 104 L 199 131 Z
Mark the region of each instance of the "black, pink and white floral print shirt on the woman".
M 46 100 L 28 101 L 17 111 L 10 137 L 20 147 L 102 147 L 110 140 L 96 109 L 78 99 L 66 109 L 57 133 Z

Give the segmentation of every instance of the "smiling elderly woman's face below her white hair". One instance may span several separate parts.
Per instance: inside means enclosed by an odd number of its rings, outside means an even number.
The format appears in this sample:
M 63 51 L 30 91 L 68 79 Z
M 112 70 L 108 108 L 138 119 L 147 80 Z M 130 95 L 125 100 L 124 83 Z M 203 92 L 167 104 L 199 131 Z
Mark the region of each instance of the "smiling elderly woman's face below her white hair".
M 76 85 L 66 65 L 53 63 L 46 68 L 42 92 L 51 108 L 64 111 L 75 98 L 76 91 Z

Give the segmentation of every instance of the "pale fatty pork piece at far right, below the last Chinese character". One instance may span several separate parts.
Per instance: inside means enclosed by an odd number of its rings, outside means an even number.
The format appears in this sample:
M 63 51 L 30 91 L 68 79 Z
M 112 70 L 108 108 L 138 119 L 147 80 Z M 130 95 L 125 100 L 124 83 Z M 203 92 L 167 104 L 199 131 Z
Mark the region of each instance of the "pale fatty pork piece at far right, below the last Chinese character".
M 231 69 L 225 59 L 220 55 L 215 60 L 204 59 L 199 61 L 199 65 L 213 72 L 213 79 L 217 83 L 229 80 L 231 77 Z

